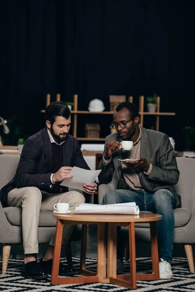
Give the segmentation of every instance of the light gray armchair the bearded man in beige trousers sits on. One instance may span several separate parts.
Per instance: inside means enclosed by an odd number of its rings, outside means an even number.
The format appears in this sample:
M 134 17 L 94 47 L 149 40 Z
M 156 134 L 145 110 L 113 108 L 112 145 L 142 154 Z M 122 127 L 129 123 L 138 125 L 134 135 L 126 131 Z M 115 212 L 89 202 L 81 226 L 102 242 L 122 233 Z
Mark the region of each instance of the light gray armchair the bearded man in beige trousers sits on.
M 20 155 L 0 155 L 0 189 L 15 175 L 20 160 Z M 73 190 L 73 189 L 71 189 Z M 85 195 L 86 202 L 93 203 L 93 196 Z M 56 230 L 56 219 L 52 211 L 40 211 L 38 242 L 50 241 Z M 72 266 L 70 241 L 81 239 L 81 226 L 76 225 L 67 246 L 66 257 L 69 266 Z M 21 208 L 2 208 L 0 203 L 0 243 L 2 243 L 2 274 L 6 274 L 11 245 L 22 244 Z

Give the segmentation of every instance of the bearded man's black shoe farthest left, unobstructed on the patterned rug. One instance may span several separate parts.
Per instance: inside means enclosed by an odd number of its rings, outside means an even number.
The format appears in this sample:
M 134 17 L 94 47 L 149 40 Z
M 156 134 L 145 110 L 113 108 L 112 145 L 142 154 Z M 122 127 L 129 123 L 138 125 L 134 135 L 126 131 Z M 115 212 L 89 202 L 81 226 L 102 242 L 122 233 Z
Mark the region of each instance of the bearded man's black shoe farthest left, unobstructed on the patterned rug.
M 43 279 L 48 277 L 47 273 L 43 271 L 35 260 L 22 265 L 21 275 L 30 279 Z

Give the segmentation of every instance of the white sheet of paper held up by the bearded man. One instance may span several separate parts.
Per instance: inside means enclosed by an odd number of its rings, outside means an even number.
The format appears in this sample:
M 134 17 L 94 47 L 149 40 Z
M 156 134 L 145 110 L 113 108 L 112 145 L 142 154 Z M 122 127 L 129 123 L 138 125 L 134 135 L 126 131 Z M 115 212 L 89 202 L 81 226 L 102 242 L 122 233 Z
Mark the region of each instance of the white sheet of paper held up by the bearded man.
M 88 170 L 74 166 L 69 174 L 73 174 L 70 179 L 65 179 L 60 185 L 77 188 L 84 191 L 83 184 L 94 183 L 101 170 Z

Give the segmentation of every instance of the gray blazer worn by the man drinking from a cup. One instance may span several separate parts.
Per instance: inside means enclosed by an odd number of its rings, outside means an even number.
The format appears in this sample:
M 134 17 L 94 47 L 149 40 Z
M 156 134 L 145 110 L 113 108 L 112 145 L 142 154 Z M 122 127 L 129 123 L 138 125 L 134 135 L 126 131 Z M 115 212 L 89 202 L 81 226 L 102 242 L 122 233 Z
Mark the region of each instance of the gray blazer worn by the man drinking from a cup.
M 181 206 L 180 196 L 174 192 L 173 185 L 178 182 L 179 171 L 176 164 L 174 149 L 170 143 L 169 137 L 161 132 L 151 129 L 141 128 L 141 147 L 140 157 L 145 158 L 153 164 L 149 176 L 139 173 L 139 180 L 142 187 L 150 192 L 156 192 L 161 188 L 169 189 L 175 196 L 175 208 Z M 119 141 L 121 138 L 117 133 L 111 134 L 105 139 L 104 153 L 106 152 L 107 143 L 110 141 Z M 99 164 L 102 169 L 98 176 L 99 183 L 110 183 L 112 181 L 114 170 L 119 182 L 121 178 L 121 163 L 118 159 L 122 158 L 122 149 L 112 155 L 111 163 L 105 165 L 103 160 Z

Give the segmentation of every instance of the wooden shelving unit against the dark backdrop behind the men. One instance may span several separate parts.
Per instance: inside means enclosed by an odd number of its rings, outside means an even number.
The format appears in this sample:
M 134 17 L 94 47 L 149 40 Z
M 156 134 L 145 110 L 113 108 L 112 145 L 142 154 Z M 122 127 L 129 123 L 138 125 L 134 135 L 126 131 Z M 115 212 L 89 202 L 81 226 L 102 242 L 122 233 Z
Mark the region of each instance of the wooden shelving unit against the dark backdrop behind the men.
M 56 100 L 60 100 L 60 94 L 56 95 Z M 133 96 L 128 97 L 129 102 L 133 102 Z M 78 110 L 78 94 L 73 95 L 74 108 L 71 110 L 73 114 L 73 136 L 76 137 L 80 141 L 105 141 L 105 138 L 84 138 L 77 137 L 77 124 L 78 124 L 78 114 L 113 114 L 113 111 L 101 111 L 101 112 L 92 112 L 88 110 Z M 46 106 L 50 104 L 50 94 L 46 95 Z M 160 97 L 156 97 L 157 111 L 156 112 L 144 112 L 144 96 L 139 96 L 139 115 L 140 115 L 140 126 L 143 127 L 144 123 L 144 115 L 153 115 L 156 116 L 156 131 L 159 131 L 159 117 L 160 116 L 174 116 L 175 112 L 160 112 Z M 44 112 L 45 110 L 41 110 Z M 109 127 L 109 125 L 108 125 Z

